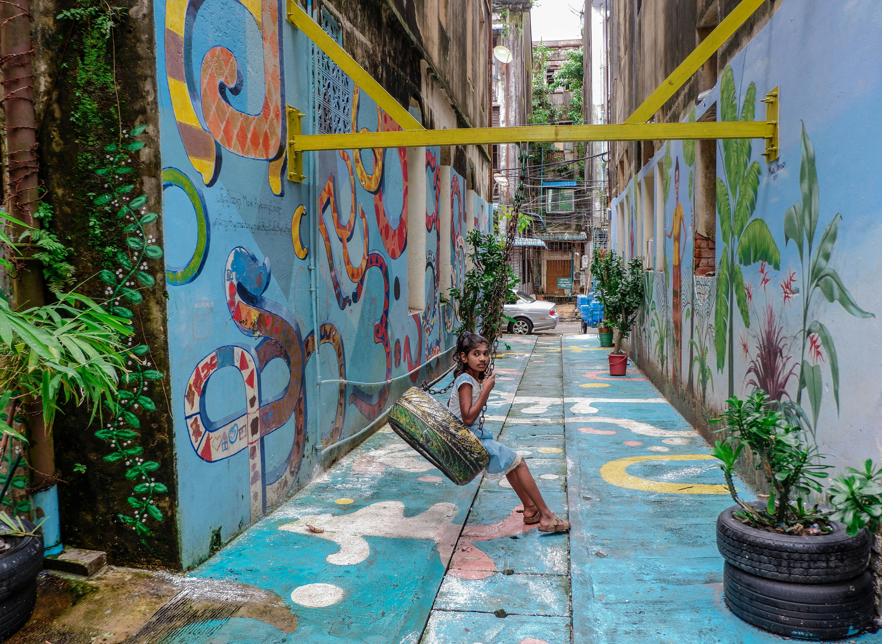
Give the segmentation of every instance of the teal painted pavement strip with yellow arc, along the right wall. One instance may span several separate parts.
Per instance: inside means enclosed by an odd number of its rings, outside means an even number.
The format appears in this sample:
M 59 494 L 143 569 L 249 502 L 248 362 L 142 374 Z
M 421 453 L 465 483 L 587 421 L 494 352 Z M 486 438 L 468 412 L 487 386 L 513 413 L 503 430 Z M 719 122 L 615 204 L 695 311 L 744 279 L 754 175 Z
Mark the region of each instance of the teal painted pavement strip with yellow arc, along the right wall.
M 781 641 L 723 603 L 714 525 L 732 502 L 695 493 L 725 483 L 705 441 L 633 364 L 626 378 L 610 377 L 609 349 L 598 345 L 563 339 L 573 641 Z M 846 641 L 880 642 L 882 633 Z

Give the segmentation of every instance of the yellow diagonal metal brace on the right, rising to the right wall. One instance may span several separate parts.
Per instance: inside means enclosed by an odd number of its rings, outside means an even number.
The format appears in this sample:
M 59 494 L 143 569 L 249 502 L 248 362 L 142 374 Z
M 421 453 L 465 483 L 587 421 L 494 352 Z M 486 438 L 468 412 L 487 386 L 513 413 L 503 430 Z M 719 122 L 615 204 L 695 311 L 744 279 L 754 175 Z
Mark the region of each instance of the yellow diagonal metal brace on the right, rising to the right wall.
M 704 41 L 696 47 L 683 63 L 679 64 L 676 70 L 670 72 L 670 76 L 664 80 L 662 85 L 655 88 L 646 101 L 640 105 L 634 113 L 625 119 L 626 124 L 646 123 L 662 105 L 673 96 L 684 83 L 691 79 L 692 74 L 699 71 L 699 67 L 705 64 L 707 59 L 714 55 L 723 42 L 727 41 L 732 34 L 735 34 L 739 26 L 744 25 L 744 21 L 751 17 L 754 11 L 757 11 L 760 4 L 765 0 L 742 0 L 735 9 L 729 12 L 726 18 L 722 19 L 720 24 L 707 35 Z

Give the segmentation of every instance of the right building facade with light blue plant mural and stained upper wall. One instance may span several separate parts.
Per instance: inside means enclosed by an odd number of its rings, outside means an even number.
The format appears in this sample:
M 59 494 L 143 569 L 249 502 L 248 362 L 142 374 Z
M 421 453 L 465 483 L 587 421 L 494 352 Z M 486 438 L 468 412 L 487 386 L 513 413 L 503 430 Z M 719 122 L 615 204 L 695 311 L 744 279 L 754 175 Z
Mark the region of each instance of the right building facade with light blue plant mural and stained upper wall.
M 610 2 L 613 122 L 735 4 Z M 762 140 L 610 144 L 612 247 L 647 268 L 631 355 L 706 438 L 762 389 L 827 464 L 882 455 L 878 131 L 860 125 L 882 98 L 880 24 L 870 4 L 763 4 L 655 116 L 763 120 L 777 92 L 777 158 Z

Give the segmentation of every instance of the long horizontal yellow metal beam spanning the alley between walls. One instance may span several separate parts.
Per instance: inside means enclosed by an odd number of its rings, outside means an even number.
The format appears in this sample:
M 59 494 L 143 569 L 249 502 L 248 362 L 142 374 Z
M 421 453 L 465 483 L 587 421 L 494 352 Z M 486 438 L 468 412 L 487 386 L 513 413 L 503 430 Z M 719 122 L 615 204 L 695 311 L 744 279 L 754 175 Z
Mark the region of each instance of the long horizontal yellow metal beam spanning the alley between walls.
M 377 147 L 469 146 L 527 141 L 641 141 L 771 139 L 775 124 L 764 121 L 612 125 L 527 125 L 452 130 L 311 134 L 288 139 L 288 153 Z M 290 157 L 289 157 L 290 158 Z

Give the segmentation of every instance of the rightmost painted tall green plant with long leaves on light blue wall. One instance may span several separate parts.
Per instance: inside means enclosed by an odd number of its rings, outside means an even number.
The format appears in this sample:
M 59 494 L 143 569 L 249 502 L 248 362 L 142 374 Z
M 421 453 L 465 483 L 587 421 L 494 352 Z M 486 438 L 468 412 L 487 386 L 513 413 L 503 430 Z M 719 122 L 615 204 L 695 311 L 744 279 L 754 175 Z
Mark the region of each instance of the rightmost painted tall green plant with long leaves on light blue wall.
M 802 297 L 802 328 L 797 334 L 797 340 L 801 342 L 799 363 L 799 389 L 796 393 L 796 402 L 801 404 L 803 392 L 809 398 L 811 406 L 811 428 L 818 425 L 821 396 L 824 391 L 821 363 L 826 362 L 830 370 L 830 380 L 833 384 L 833 400 L 836 401 L 836 411 L 839 412 L 839 358 L 836 356 L 836 347 L 833 344 L 833 336 L 830 330 L 818 319 L 811 319 L 810 307 L 813 299 L 820 291 L 828 303 L 837 302 L 856 318 L 875 318 L 873 313 L 864 311 L 855 302 L 855 298 L 848 292 L 848 288 L 842 283 L 839 273 L 830 266 L 830 258 L 833 254 L 833 244 L 842 215 L 833 215 L 824 232 L 821 233 L 817 245 L 815 235 L 818 231 L 818 172 L 815 168 L 815 148 L 811 145 L 811 139 L 805 132 L 803 124 L 801 142 L 801 161 L 799 166 L 799 187 L 802 199 L 787 209 L 784 213 L 784 240 L 785 244 L 793 242 L 796 251 L 799 252 L 800 278 L 804 284 Z M 792 286 L 792 281 L 782 284 L 784 297 L 793 295 L 798 290 Z M 826 352 L 826 361 L 823 360 L 822 349 Z

